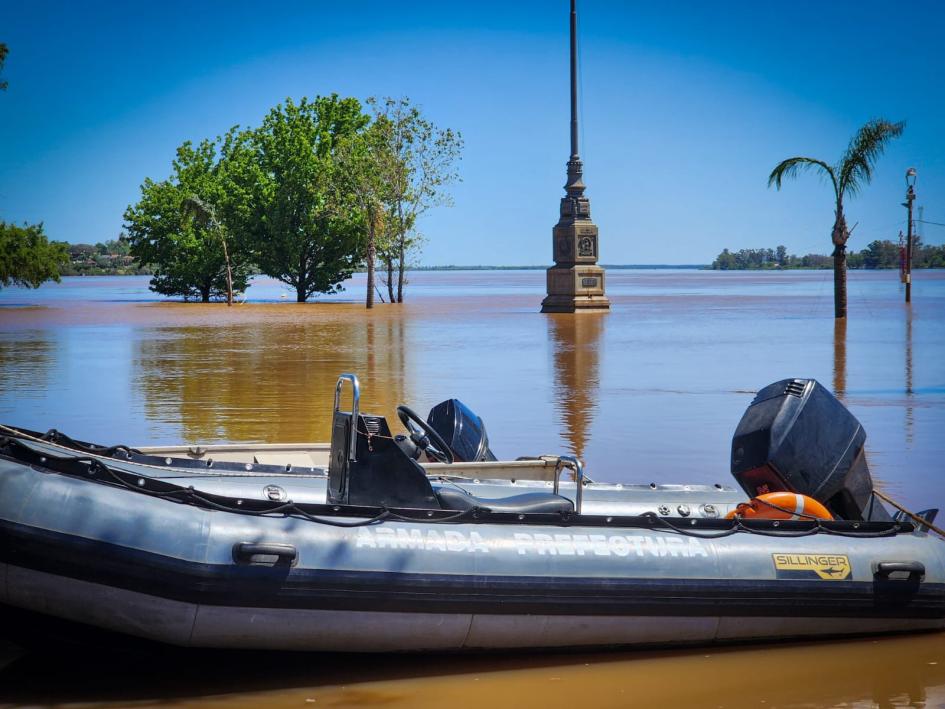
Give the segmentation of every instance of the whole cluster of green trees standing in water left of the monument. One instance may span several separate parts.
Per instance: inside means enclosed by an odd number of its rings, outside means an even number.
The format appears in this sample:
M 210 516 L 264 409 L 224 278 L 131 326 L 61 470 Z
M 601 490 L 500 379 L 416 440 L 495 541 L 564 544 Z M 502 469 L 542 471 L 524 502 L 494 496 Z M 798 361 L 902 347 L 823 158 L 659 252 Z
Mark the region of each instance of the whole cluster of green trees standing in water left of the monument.
M 380 266 L 402 302 L 417 218 L 449 202 L 461 149 L 407 99 L 286 99 L 258 127 L 185 142 L 170 177 L 145 179 L 125 211 L 129 253 L 152 290 L 185 299 L 232 302 L 258 271 L 304 302 L 364 268 L 372 307 Z

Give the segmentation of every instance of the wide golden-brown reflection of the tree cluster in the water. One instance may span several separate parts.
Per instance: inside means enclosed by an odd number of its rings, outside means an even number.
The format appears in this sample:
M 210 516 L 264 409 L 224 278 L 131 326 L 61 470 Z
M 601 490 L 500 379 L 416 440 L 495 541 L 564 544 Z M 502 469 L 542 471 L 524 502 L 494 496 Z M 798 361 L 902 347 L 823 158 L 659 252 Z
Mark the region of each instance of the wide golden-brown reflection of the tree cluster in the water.
M 356 372 L 363 411 L 391 420 L 409 400 L 399 319 L 364 317 L 233 327 L 173 327 L 136 343 L 147 418 L 197 441 L 324 441 L 340 372 Z

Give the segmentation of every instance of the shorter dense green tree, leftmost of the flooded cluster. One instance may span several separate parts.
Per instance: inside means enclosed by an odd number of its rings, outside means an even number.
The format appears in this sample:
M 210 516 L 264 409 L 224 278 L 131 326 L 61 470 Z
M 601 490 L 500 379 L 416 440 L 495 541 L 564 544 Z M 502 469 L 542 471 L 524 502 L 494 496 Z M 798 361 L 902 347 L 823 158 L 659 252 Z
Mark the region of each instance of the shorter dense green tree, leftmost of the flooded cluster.
M 220 142 L 181 145 L 171 177 L 161 182 L 145 179 L 141 199 L 125 210 L 130 253 L 142 264 L 153 265 L 150 287 L 157 293 L 206 303 L 246 288 L 249 262 L 242 253 L 232 254 L 232 268 L 227 268 L 231 254 L 223 248 L 220 227 L 183 218 L 187 200 L 216 205 L 239 198 L 226 189 L 227 168 L 217 150 Z M 227 209 L 237 211 L 229 205 Z

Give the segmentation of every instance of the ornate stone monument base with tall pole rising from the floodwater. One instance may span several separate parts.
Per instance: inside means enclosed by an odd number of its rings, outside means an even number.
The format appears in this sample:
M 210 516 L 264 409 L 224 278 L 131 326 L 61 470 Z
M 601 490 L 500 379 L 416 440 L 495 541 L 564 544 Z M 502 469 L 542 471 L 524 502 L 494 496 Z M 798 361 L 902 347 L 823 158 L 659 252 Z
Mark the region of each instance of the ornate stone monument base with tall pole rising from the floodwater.
M 555 265 L 547 271 L 548 295 L 543 313 L 576 313 L 610 309 L 604 295 L 604 269 L 597 265 L 597 225 L 584 196 L 584 164 L 578 153 L 577 11 L 571 0 L 571 158 L 561 198 L 561 214 L 552 230 Z

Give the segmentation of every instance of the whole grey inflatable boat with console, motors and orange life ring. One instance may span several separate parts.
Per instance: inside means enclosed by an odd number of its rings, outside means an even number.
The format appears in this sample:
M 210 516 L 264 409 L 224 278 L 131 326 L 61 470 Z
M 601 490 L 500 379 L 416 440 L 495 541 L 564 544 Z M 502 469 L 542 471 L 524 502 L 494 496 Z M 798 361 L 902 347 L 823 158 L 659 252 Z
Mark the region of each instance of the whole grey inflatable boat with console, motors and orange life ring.
M 342 375 L 311 450 L 0 427 L 0 603 L 173 645 L 341 652 L 945 627 L 935 511 L 889 513 L 862 427 L 814 380 L 755 397 L 737 486 L 592 482 L 569 456 L 496 460 L 456 399 L 397 413 L 394 435 Z

